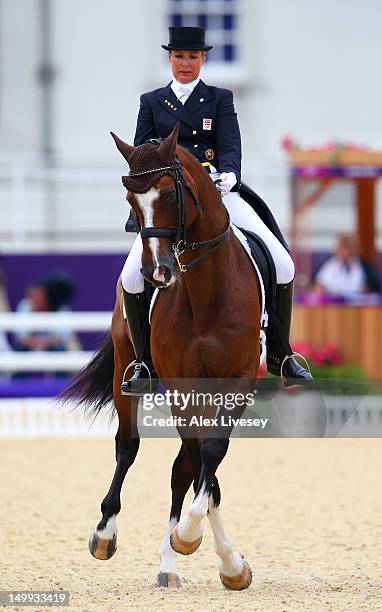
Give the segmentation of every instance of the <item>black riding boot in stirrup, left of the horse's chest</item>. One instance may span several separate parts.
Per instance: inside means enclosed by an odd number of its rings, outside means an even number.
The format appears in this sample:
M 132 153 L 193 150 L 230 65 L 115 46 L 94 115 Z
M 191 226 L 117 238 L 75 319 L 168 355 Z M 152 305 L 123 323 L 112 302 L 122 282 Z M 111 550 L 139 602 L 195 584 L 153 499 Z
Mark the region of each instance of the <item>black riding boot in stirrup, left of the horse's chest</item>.
M 127 293 L 125 290 L 123 290 L 123 301 L 137 363 L 134 365 L 132 377 L 123 380 L 121 395 L 139 396 L 153 393 L 157 388 L 158 380 L 150 352 L 148 322 L 150 304 L 145 293 Z M 140 359 L 142 361 L 139 361 Z

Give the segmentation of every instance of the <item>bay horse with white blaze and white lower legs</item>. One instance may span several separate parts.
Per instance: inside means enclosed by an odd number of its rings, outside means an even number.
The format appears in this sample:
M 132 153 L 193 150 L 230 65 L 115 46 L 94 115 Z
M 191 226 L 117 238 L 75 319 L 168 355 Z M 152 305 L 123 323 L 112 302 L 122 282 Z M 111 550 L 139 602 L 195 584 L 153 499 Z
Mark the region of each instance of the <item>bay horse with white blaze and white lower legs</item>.
M 179 125 L 161 144 L 149 141 L 139 147 L 112 133 L 130 166 L 122 180 L 141 226 L 142 272 L 160 288 L 151 315 L 153 364 L 161 379 L 253 381 L 260 360 L 259 283 L 213 181 L 192 154 L 177 146 L 178 130 Z M 95 414 L 114 400 L 119 420 L 116 469 L 101 504 L 102 519 L 89 541 L 97 559 L 109 559 L 116 550 L 120 492 L 139 448 L 137 400 L 120 393 L 124 372 L 134 359 L 119 279 L 111 337 L 64 392 L 64 400 L 83 404 Z M 243 410 L 239 408 L 239 414 Z M 220 437 L 215 433 L 198 439 L 178 428 L 182 443 L 172 467 L 172 503 L 160 547 L 159 586 L 180 586 L 176 552 L 191 554 L 199 547 L 207 515 L 220 557 L 221 581 L 233 590 L 251 583 L 251 568 L 234 550 L 219 513 L 216 470 L 228 450 L 231 429 Z M 181 518 L 191 484 L 194 497 Z

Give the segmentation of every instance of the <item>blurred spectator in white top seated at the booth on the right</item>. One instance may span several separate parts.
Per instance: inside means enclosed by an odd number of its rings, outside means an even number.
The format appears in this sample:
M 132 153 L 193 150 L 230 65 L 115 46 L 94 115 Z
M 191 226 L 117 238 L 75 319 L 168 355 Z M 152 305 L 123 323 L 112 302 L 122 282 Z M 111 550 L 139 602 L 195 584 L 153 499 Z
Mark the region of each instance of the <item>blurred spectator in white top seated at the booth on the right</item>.
M 356 254 L 352 237 L 341 234 L 337 238 L 335 254 L 316 274 L 314 289 L 321 294 L 351 297 L 364 292 L 378 292 L 380 285 L 371 264 Z

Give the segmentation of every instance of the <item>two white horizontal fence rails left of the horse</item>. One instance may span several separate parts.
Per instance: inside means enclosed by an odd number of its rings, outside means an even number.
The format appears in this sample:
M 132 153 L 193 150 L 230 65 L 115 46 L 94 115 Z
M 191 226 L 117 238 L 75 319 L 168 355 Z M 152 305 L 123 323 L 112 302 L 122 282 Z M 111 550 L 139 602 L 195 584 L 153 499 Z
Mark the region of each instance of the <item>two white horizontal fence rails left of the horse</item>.
M 55 331 L 102 331 L 111 323 L 110 312 L 60 312 L 60 313 L 0 313 L 0 331 L 20 330 Z M 2 351 L 0 352 L 0 372 L 14 371 L 76 371 L 86 365 L 91 351 Z

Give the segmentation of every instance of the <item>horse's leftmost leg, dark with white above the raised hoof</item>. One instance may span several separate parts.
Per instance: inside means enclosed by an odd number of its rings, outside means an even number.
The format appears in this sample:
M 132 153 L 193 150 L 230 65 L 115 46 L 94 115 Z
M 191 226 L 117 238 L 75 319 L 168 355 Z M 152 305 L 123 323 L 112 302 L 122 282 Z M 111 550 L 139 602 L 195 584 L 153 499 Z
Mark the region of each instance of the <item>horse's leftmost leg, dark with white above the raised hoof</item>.
M 116 365 L 118 360 L 115 359 Z M 121 489 L 126 473 L 134 463 L 139 449 L 136 426 L 138 402 L 128 396 L 121 397 L 120 385 L 123 369 L 116 367 L 114 374 L 114 403 L 118 412 L 119 427 L 115 437 L 116 460 L 110 489 L 101 503 L 102 519 L 89 540 L 89 550 L 96 559 L 106 560 L 117 549 L 116 516 L 121 510 Z

